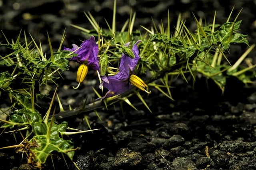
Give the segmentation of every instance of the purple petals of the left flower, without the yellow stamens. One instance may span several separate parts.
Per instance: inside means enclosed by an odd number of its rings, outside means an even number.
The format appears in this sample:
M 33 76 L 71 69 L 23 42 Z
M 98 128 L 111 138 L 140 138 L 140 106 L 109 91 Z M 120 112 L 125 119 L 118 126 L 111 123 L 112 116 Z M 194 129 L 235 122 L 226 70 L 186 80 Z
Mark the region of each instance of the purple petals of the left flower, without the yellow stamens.
M 94 36 L 91 36 L 90 39 L 82 42 L 80 47 L 73 44 L 73 48 L 69 49 L 64 47 L 64 50 L 71 51 L 77 54 L 76 57 L 71 57 L 69 61 L 75 61 L 77 63 L 84 63 L 87 66 L 91 67 L 94 70 L 99 70 L 99 57 L 98 52 L 99 48 L 95 42 Z

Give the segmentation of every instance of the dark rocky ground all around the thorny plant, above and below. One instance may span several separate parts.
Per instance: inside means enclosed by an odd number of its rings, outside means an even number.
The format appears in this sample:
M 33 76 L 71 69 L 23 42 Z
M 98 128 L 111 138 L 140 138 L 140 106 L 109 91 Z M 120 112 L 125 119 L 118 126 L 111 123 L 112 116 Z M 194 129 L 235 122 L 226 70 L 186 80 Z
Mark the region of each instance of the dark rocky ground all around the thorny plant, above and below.
M 97 21 L 104 25 L 104 18 L 111 22 L 112 0 L 103 3 L 97 0 L 0 0 L 0 28 L 8 39 L 16 38 L 20 29 L 31 33 L 42 44 L 47 44 L 46 30 L 52 45 L 58 48 L 62 33 L 66 29 L 64 46 L 86 37 L 70 27 L 70 23 L 90 29 L 84 12 L 90 11 Z M 243 8 L 238 20 L 242 20 L 241 32 L 248 34 L 250 44 L 256 43 L 255 1 L 252 0 L 118 0 L 117 21 L 122 25 L 123 18 L 129 18 L 130 10 L 136 12 L 136 24 L 151 26 L 154 21 L 166 22 L 167 10 L 170 10 L 172 25 L 175 25 L 181 12 L 190 29 L 195 29 L 191 12 L 197 17 L 206 18 L 211 23 L 214 11 L 216 23 L 224 23 L 233 6 L 234 15 Z M 4 41 L 2 34 L 0 40 Z M 43 46 L 47 51 L 48 47 Z M 245 51 L 246 45 L 232 46 L 230 59 L 237 59 Z M 250 53 L 256 63 L 255 51 Z M 97 82 L 86 78 L 78 89 L 76 68 L 63 74 L 58 94 L 64 107 L 80 106 L 82 101 L 94 96 L 91 86 Z M 93 72 L 89 72 L 93 78 Z M 89 77 L 89 76 L 88 76 Z M 206 88 L 204 78 L 198 78 L 192 88 L 183 80 L 177 79 L 172 95 L 175 101 L 165 98 L 153 90 L 150 96 L 144 96 L 152 109 L 152 114 L 144 108 L 136 97 L 130 100 L 138 111 L 124 104 L 124 113 L 120 107 L 110 107 L 99 111 L 100 121 L 95 113 L 88 114 L 94 133 L 74 135 L 73 141 L 80 150 L 76 151 L 74 162 L 82 170 L 93 169 L 149 169 L 149 170 L 255 170 L 256 169 L 256 86 L 244 86 L 230 78 L 224 95 L 209 82 Z M 68 91 L 68 92 L 67 92 Z M 143 94 L 142 94 L 143 95 Z M 69 126 L 81 130 L 88 129 L 83 115 L 64 119 Z M 4 146 L 14 142 L 13 137 L 1 136 Z M 27 170 L 26 158 L 14 150 L 0 150 L 0 169 Z M 55 169 L 68 169 L 63 158 L 54 153 Z M 69 169 L 75 169 L 68 161 Z M 44 169 L 54 169 L 49 159 Z

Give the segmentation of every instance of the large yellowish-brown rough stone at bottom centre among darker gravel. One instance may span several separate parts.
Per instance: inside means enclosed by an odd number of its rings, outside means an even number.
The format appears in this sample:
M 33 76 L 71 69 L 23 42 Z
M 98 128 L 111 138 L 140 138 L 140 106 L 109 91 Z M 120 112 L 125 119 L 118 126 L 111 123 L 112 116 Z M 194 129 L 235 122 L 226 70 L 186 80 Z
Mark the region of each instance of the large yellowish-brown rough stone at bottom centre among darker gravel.
M 117 169 L 136 168 L 142 162 L 142 155 L 140 152 L 134 152 L 130 149 L 121 148 L 116 153 L 114 161 L 111 166 Z

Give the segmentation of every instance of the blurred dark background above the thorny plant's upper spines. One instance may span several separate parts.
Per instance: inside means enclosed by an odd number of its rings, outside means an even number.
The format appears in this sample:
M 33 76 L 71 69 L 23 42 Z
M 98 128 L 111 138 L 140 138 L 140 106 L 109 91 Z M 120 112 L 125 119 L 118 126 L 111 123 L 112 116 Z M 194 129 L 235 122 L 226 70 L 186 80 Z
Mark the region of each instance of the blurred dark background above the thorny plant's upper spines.
M 105 19 L 112 23 L 113 4 L 114 0 L 0 0 L 0 29 L 9 40 L 16 39 L 22 29 L 42 44 L 47 43 L 48 31 L 53 46 L 59 45 L 66 29 L 64 46 L 70 46 L 85 38 L 70 24 L 92 29 L 84 14 L 90 12 L 102 28 L 108 28 Z M 193 30 L 196 24 L 192 14 L 212 23 L 216 11 L 216 23 L 222 24 L 233 7 L 231 21 L 242 9 L 238 18 L 242 20 L 241 32 L 249 35 L 250 44 L 256 43 L 256 0 L 117 0 L 116 6 L 117 29 L 130 17 L 131 11 L 136 12 L 134 26 L 137 29 L 142 29 L 140 25 L 150 29 L 152 19 L 166 24 L 169 10 L 172 30 L 179 13 L 186 20 L 186 26 Z M 4 41 L 2 33 L 0 41 Z

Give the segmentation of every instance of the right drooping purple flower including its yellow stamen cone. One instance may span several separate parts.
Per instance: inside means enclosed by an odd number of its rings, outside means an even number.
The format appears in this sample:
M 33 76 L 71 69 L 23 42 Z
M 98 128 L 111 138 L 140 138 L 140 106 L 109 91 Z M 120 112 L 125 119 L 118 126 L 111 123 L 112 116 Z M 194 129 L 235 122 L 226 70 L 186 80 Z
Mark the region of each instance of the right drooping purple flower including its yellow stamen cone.
M 134 54 L 134 58 L 128 57 L 123 53 L 121 56 L 119 72 L 114 76 L 109 76 L 108 82 L 104 80 L 102 81 L 102 83 L 100 84 L 100 88 L 103 86 L 108 89 L 108 92 L 105 96 L 99 99 L 122 94 L 130 90 L 131 84 L 133 84 L 140 90 L 150 93 L 145 89 L 148 86 L 138 76 L 133 74 L 134 68 L 140 59 L 139 50 L 137 47 L 138 43 L 140 42 L 141 41 L 137 41 L 132 47 L 131 51 Z M 130 42 L 126 43 L 124 46 L 127 47 L 128 45 L 130 45 Z

